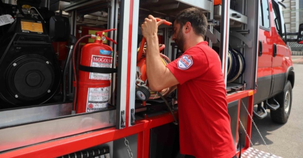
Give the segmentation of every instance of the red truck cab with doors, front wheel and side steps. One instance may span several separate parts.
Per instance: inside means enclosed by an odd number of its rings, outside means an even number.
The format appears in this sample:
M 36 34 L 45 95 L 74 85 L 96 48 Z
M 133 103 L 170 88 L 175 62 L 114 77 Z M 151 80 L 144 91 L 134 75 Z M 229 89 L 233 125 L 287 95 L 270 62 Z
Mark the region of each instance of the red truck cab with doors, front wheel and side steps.
M 291 50 L 287 46 L 282 5 L 275 0 L 261 0 L 259 9 L 259 52 L 255 116 L 262 119 L 270 109 L 271 119 L 286 123 L 291 111 L 295 72 Z

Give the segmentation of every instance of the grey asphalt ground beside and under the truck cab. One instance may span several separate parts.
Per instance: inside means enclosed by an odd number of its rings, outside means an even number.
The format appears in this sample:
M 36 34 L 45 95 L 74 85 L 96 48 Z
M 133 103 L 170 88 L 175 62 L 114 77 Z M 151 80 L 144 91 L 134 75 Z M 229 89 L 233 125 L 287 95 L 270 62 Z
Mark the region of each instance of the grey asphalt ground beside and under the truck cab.
M 295 85 L 292 89 L 288 122 L 285 124 L 272 122 L 270 110 L 264 119 L 254 118 L 271 153 L 284 158 L 303 158 L 303 64 L 294 64 L 294 70 Z M 252 126 L 251 141 L 255 149 L 268 152 L 256 128 Z

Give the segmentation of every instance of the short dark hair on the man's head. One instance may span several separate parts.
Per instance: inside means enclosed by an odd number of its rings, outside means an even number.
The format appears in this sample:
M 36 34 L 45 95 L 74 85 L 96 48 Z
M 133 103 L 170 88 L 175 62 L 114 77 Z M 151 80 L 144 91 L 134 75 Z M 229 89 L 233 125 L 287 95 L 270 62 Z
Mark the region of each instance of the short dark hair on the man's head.
M 190 22 L 194 32 L 204 38 L 208 24 L 201 9 L 195 7 L 186 8 L 178 13 L 176 17 L 176 22 L 180 24 L 181 28 L 186 22 Z

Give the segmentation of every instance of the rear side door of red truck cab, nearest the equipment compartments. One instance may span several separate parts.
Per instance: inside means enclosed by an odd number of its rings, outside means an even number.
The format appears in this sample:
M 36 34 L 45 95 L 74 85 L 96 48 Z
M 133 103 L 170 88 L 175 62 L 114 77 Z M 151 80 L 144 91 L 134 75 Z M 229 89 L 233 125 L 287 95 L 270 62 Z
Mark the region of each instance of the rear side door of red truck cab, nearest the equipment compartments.
M 270 95 L 272 80 L 272 32 L 268 0 L 261 0 L 259 12 L 259 52 L 257 69 L 257 93 L 254 104 L 260 103 Z

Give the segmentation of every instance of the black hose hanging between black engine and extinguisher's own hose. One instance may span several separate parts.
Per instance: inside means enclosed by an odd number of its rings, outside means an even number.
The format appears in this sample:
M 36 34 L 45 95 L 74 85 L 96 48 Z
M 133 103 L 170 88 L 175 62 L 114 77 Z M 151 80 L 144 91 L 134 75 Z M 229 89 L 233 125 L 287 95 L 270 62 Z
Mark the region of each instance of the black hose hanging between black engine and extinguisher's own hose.
M 63 66 L 63 102 L 66 101 L 66 75 L 67 75 L 67 70 L 68 70 L 68 66 L 69 66 L 69 62 L 71 61 L 72 59 L 72 52 L 73 52 L 73 48 L 74 48 L 74 45 L 76 43 L 77 39 L 75 36 L 73 35 L 70 35 L 69 36 L 69 52 L 68 52 L 68 55 L 66 57 L 66 60 L 65 60 L 65 63 L 64 63 L 64 66 Z

